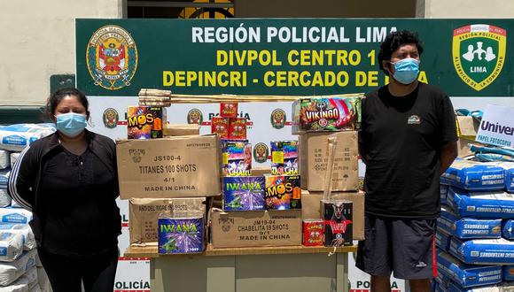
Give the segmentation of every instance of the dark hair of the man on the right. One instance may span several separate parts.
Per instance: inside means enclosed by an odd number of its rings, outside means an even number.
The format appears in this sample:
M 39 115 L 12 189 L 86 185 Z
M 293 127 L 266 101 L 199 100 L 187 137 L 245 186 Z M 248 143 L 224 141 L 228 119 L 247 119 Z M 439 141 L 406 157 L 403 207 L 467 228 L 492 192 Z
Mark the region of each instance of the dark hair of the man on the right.
M 378 52 L 378 66 L 385 74 L 389 74 L 384 69 L 384 65 L 382 65 L 382 61 L 390 61 L 391 55 L 393 55 L 393 51 L 398 50 L 401 45 L 407 43 L 414 43 L 417 46 L 417 51 L 419 52 L 419 56 L 423 53 L 423 46 L 421 45 L 421 41 L 417 38 L 417 33 L 410 32 L 409 30 L 401 30 L 391 33 L 385 37 L 384 42 L 380 44 L 380 51 Z

